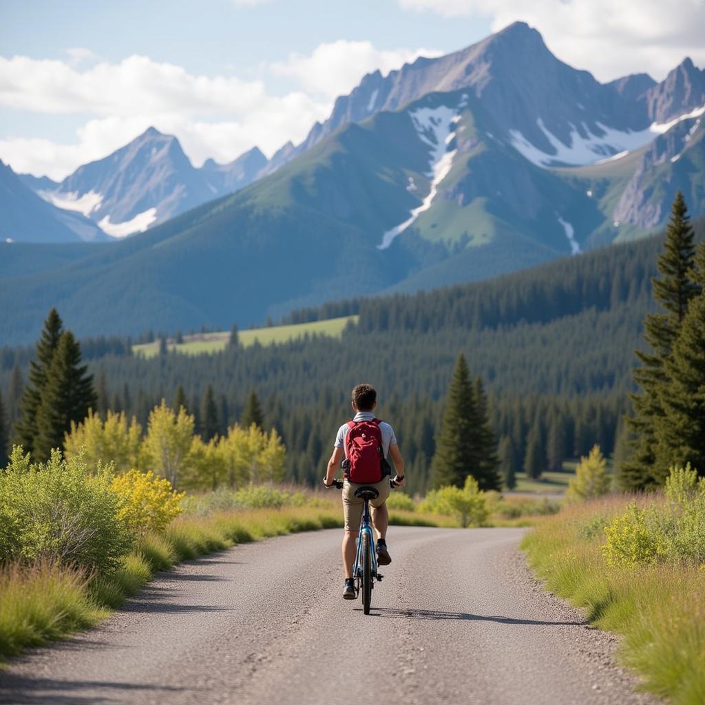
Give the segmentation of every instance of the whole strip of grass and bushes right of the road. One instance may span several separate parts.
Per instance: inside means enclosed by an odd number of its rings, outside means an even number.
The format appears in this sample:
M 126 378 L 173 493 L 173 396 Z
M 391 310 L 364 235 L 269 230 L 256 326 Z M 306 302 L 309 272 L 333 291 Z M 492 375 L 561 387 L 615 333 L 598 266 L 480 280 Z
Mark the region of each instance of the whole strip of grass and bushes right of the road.
M 524 540 L 546 587 L 622 635 L 644 688 L 705 702 L 705 479 L 671 470 L 662 493 L 569 503 Z

